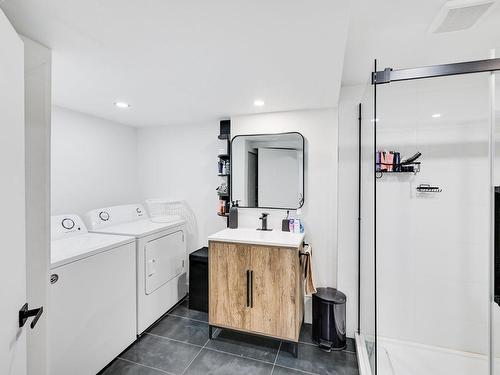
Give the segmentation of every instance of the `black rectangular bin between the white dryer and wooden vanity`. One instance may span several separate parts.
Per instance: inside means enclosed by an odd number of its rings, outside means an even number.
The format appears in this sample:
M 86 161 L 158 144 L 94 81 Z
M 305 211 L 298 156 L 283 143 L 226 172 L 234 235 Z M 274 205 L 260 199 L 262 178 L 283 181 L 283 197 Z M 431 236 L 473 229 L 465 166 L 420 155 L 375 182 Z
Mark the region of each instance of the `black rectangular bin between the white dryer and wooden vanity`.
M 208 312 L 208 247 L 189 254 L 189 308 Z

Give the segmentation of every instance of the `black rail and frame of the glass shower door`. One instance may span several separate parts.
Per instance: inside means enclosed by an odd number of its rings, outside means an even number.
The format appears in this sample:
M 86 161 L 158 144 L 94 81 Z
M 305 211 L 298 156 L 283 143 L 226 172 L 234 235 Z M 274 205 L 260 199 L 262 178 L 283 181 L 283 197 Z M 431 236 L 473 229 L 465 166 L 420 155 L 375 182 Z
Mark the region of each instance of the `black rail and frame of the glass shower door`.
M 494 374 L 494 352 L 493 352 L 493 333 L 492 333 L 492 311 L 491 304 L 494 302 L 494 285 L 493 285 L 493 267 L 494 267 L 494 160 L 495 160 L 495 102 L 494 89 L 495 89 L 495 75 L 494 72 L 500 71 L 500 58 L 490 58 L 486 60 L 465 61 L 451 64 L 430 65 L 418 68 L 405 68 L 393 69 L 385 68 L 384 70 L 377 70 L 377 59 L 374 60 L 374 69 L 371 73 L 371 84 L 373 85 L 373 152 L 377 152 L 377 85 L 390 84 L 391 82 L 412 81 L 416 79 L 447 77 L 464 74 L 474 73 L 492 73 L 490 79 L 490 101 L 491 101 L 491 118 L 490 118 L 490 141 L 489 141 L 489 158 L 490 158 L 490 290 L 489 290 L 489 308 L 488 308 L 488 326 L 489 326 L 489 373 Z M 361 103 L 359 104 L 359 186 L 361 186 Z M 378 373 L 378 331 L 377 331 L 377 181 L 376 181 L 376 160 L 374 158 L 374 183 L 373 183 L 373 255 L 374 255 L 374 368 L 375 374 Z M 360 332 L 360 315 L 361 315 L 361 189 L 358 190 L 358 334 Z M 363 375 L 363 374 L 362 374 Z

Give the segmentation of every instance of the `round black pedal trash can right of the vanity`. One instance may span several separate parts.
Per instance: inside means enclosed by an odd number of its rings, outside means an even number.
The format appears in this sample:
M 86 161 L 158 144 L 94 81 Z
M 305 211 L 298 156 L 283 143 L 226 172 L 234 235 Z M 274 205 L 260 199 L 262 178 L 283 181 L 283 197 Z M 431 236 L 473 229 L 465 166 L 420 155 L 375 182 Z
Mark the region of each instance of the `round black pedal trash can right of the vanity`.
M 345 349 L 346 300 L 346 295 L 334 288 L 318 288 L 313 294 L 312 338 L 320 348 Z

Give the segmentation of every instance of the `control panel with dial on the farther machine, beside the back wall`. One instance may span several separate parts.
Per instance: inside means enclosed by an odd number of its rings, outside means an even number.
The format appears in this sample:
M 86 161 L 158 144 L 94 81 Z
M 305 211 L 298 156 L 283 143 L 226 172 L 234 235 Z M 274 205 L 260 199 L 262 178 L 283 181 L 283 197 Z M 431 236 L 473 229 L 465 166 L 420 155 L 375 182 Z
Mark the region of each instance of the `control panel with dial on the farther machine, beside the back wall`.
M 148 217 L 142 204 L 103 207 L 92 210 L 85 215 L 90 230 L 102 229 L 111 225 L 128 223 Z

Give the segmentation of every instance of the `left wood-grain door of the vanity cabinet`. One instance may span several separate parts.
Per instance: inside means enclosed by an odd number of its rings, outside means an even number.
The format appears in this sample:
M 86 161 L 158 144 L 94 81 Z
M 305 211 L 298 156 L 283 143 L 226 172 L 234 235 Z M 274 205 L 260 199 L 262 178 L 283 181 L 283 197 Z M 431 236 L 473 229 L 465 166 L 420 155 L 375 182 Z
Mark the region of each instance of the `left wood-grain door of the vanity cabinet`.
M 212 325 L 250 329 L 250 246 L 210 242 L 209 308 Z

